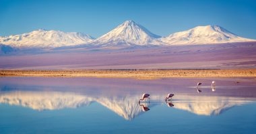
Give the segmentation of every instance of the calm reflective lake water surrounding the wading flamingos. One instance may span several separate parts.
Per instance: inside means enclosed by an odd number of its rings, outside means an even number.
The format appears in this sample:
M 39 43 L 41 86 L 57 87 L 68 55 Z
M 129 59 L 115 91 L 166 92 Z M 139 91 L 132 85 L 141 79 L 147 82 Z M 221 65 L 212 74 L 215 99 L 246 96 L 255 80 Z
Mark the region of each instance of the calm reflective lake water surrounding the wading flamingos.
M 1 134 L 255 132 L 253 78 L 0 78 Z

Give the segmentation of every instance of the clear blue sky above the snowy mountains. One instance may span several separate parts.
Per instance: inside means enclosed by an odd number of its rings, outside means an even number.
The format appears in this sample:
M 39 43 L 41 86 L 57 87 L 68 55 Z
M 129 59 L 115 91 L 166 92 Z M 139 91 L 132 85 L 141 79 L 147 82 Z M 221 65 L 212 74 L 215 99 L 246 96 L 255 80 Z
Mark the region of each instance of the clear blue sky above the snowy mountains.
M 255 0 L 0 0 L 0 36 L 43 28 L 98 38 L 130 19 L 160 36 L 220 25 L 256 39 Z

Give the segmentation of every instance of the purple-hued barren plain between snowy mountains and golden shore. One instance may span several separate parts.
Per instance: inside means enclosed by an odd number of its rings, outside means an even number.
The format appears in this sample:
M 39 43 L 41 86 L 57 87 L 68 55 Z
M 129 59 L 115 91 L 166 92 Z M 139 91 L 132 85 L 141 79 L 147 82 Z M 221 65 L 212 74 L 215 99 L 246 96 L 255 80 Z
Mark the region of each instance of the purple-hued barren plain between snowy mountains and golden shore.
M 70 48 L 0 56 L 11 70 L 255 68 L 256 42 L 148 48 Z

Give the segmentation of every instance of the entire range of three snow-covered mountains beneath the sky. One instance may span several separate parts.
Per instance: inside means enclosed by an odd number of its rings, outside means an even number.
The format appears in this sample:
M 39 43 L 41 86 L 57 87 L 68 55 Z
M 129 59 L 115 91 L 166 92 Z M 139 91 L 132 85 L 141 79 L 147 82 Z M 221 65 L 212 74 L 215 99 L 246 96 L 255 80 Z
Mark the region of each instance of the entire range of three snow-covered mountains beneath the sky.
M 38 29 L 26 34 L 0 37 L 1 46 L 11 48 L 59 48 L 67 46 L 172 46 L 189 44 L 222 44 L 232 42 L 255 42 L 242 38 L 218 25 L 197 26 L 167 37 L 152 34 L 148 29 L 125 21 L 115 29 L 93 38 L 88 34 Z M 2 47 L 3 48 L 3 47 Z M 10 48 L 9 48 L 10 49 Z

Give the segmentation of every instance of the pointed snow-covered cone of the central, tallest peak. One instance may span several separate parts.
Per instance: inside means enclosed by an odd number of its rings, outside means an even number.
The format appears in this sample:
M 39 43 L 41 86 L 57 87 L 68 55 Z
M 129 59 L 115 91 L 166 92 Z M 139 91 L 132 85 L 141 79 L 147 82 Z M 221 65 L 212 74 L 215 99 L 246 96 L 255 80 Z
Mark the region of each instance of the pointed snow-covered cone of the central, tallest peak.
M 112 31 L 104 34 L 100 38 L 96 39 L 92 44 L 96 45 L 158 45 L 162 44 L 160 38 L 155 34 L 152 34 L 145 27 L 135 23 L 134 21 L 125 21 L 121 25 L 117 26 Z

